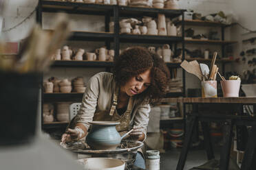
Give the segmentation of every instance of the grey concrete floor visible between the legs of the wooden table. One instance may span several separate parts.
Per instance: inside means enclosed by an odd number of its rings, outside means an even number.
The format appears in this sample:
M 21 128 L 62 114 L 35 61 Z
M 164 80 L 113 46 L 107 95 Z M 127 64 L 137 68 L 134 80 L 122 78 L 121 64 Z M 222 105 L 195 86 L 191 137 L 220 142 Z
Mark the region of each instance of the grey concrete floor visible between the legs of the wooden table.
M 181 149 L 172 149 L 160 154 L 160 169 L 172 170 L 176 169 Z M 215 158 L 220 158 L 220 151 L 215 150 Z M 206 151 L 203 149 L 191 149 L 186 158 L 184 170 L 197 167 L 207 162 Z

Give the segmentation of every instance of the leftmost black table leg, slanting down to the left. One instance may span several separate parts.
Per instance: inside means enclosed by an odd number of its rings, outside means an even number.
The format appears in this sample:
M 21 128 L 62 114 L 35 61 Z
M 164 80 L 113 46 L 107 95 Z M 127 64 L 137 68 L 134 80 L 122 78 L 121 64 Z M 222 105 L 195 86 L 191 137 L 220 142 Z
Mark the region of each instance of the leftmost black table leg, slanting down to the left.
M 188 154 L 189 146 L 191 144 L 191 138 L 195 129 L 195 123 L 198 123 L 198 117 L 191 116 L 188 120 L 188 129 L 185 135 L 182 151 L 180 152 L 180 158 L 176 167 L 177 170 L 182 170 L 184 168 L 186 156 Z

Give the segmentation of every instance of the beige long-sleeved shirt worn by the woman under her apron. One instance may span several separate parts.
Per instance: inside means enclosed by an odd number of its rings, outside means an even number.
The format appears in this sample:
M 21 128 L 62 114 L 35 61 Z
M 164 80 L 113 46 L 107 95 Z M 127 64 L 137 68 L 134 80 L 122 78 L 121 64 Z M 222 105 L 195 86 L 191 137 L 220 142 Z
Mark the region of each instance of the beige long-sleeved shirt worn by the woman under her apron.
M 112 73 L 101 72 L 91 77 L 83 95 L 81 109 L 74 119 L 76 123 L 83 123 L 88 130 L 88 122 L 93 120 L 95 112 L 111 108 L 115 88 L 116 82 Z M 143 127 L 146 136 L 150 106 L 149 104 L 143 104 L 143 101 L 143 99 L 134 96 L 134 105 L 132 106 L 129 125 L 131 127 Z

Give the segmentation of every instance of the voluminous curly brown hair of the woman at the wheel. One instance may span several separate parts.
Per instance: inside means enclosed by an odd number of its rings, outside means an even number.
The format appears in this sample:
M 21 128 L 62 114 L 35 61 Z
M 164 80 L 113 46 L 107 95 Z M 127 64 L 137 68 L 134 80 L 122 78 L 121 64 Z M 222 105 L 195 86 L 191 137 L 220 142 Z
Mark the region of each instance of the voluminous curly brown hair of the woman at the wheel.
M 114 61 L 114 76 L 119 86 L 148 69 L 151 70 L 151 84 L 136 96 L 149 104 L 156 104 L 166 94 L 170 80 L 169 69 L 162 58 L 143 47 L 133 47 L 123 51 Z

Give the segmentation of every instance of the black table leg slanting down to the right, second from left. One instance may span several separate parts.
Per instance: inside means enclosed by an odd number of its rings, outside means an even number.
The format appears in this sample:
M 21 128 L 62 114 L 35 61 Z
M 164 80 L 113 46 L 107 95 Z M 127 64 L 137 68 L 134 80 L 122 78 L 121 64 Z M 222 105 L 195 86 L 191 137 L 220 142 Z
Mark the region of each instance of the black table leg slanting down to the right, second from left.
M 201 124 L 202 124 L 202 132 L 204 135 L 204 147 L 206 149 L 207 158 L 208 160 L 211 160 L 211 159 L 214 159 L 214 154 L 213 154 L 213 145 L 211 143 L 209 124 L 203 121 L 201 121 Z

